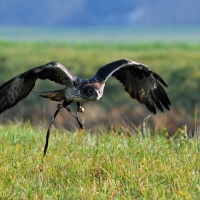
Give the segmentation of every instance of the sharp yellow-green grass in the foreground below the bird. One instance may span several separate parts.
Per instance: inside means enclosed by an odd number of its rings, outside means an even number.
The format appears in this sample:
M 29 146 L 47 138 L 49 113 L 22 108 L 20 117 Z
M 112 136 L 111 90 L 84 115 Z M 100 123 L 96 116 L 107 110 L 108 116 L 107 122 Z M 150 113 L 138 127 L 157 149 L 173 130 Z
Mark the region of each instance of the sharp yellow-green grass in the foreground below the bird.
M 178 131 L 180 132 L 180 130 Z M 0 125 L 0 199 L 199 199 L 200 144 L 132 130 L 68 132 Z

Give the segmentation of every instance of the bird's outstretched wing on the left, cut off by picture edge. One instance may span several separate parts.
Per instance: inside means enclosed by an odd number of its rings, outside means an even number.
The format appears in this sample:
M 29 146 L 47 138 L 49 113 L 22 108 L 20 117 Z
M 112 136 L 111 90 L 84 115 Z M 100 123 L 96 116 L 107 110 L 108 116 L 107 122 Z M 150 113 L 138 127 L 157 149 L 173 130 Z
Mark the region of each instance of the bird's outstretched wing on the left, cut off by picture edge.
M 25 98 L 38 78 L 69 86 L 76 80 L 76 77 L 58 62 L 50 62 L 30 69 L 0 86 L 0 113 Z

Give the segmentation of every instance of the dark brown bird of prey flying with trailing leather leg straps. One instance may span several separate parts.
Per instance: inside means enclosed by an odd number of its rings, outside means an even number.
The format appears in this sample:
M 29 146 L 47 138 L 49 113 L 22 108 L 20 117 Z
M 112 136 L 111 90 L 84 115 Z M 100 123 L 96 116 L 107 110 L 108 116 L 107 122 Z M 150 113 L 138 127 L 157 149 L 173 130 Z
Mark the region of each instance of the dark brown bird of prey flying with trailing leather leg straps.
M 145 104 L 152 113 L 156 114 L 156 107 L 162 112 L 164 112 L 163 107 L 170 109 L 170 100 L 161 86 L 162 84 L 167 87 L 164 80 L 144 64 L 129 59 L 120 59 L 99 68 L 92 78 L 86 80 L 72 75 L 59 62 L 49 62 L 30 69 L 0 86 L 0 113 L 27 97 L 38 78 L 49 79 L 65 86 L 60 90 L 40 94 L 43 98 L 62 102 L 57 106 L 58 109 L 54 114 L 52 123 L 59 110 L 66 108 L 76 118 L 80 128 L 83 128 L 77 113 L 84 112 L 83 103 L 98 101 L 102 98 L 105 83 L 110 76 L 119 80 L 124 85 L 125 91 L 133 99 Z M 76 115 L 70 109 L 72 102 L 77 102 Z M 48 147 L 51 125 L 47 131 L 44 155 Z

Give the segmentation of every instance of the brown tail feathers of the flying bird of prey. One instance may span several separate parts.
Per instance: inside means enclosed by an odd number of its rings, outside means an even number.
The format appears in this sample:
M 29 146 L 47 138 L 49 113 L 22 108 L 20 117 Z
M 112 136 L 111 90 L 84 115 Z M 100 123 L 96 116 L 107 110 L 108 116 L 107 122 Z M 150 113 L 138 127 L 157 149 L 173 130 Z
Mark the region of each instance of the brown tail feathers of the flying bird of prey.
M 65 100 L 64 89 L 55 90 L 55 91 L 40 92 L 39 96 L 41 96 L 43 98 L 50 98 L 53 101 L 63 101 L 63 100 Z

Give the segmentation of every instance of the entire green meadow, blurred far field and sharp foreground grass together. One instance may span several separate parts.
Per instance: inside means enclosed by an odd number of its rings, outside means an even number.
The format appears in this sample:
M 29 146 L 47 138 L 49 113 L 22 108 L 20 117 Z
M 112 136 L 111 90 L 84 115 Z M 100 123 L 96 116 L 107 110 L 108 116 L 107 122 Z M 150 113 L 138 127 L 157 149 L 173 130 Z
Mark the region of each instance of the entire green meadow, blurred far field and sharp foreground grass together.
M 63 86 L 38 80 L 0 116 L 0 199 L 199 199 L 200 44 L 0 41 L 0 85 L 53 60 L 89 78 L 121 58 L 166 81 L 170 112 L 151 116 L 142 131 L 149 112 L 110 78 L 103 99 L 84 105 L 85 130 L 59 113 L 42 162 L 56 103 L 37 92 Z

